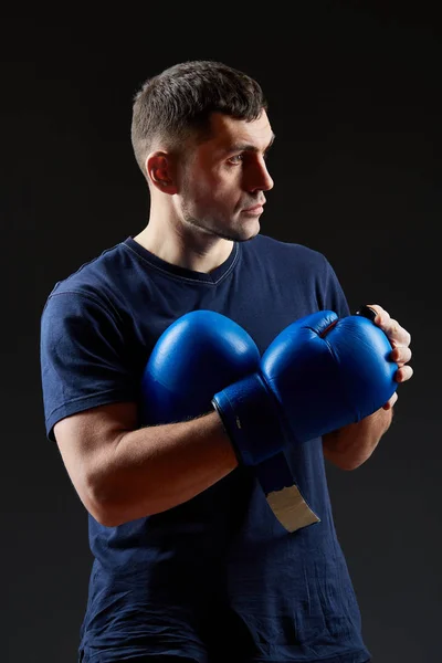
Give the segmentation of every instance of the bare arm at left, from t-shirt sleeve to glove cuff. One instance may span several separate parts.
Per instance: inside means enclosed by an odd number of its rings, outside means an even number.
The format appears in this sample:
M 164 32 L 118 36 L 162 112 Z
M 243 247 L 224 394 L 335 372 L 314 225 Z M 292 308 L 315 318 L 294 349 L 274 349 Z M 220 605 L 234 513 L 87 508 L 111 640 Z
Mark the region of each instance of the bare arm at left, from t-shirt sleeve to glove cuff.
M 54 434 L 92 516 L 113 527 L 186 502 L 238 465 L 217 412 L 135 430 L 136 408 L 116 403 L 67 417 Z

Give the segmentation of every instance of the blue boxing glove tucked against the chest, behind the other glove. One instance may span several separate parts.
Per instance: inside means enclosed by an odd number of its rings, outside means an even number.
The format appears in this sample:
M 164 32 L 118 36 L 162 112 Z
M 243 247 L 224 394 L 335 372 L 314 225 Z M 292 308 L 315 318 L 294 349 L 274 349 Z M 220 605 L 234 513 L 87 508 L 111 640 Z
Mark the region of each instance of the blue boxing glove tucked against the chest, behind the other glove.
M 158 338 L 144 369 L 141 424 L 172 423 L 213 412 L 213 396 L 256 373 L 260 360 L 252 337 L 227 316 L 212 311 L 181 316 Z M 273 457 L 256 467 L 265 495 L 294 483 L 284 453 L 278 453 L 283 445 L 283 436 L 273 435 L 272 452 L 265 454 Z

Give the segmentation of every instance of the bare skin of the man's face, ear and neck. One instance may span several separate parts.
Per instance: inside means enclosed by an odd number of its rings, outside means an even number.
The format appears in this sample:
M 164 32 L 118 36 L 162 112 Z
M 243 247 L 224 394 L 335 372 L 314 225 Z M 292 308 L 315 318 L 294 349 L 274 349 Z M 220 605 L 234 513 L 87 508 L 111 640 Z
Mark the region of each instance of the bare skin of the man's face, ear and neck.
M 265 156 L 274 135 L 266 114 L 251 123 L 213 114 L 211 124 L 212 138 L 191 146 L 183 165 L 166 150 L 148 155 L 150 217 L 135 238 L 167 262 L 204 273 L 227 260 L 233 241 L 260 232 L 262 212 L 246 209 L 265 204 L 273 188 Z

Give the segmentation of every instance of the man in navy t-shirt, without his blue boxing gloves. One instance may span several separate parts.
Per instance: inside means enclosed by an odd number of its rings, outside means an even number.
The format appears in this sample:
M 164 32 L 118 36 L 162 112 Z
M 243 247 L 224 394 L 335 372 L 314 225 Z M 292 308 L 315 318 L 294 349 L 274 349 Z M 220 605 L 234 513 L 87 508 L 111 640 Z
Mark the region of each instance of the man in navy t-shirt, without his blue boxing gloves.
M 178 64 L 136 95 L 131 139 L 147 225 L 59 282 L 42 314 L 48 436 L 88 512 L 95 558 L 80 661 L 368 661 L 324 456 L 344 470 L 367 461 L 397 393 L 357 423 L 288 445 L 317 516 L 292 533 L 215 409 L 159 425 L 140 418 L 146 362 L 189 312 L 222 314 L 261 354 L 303 316 L 349 314 L 322 254 L 260 234 L 274 140 L 262 90 L 221 63 Z M 404 382 L 410 335 L 371 309 Z

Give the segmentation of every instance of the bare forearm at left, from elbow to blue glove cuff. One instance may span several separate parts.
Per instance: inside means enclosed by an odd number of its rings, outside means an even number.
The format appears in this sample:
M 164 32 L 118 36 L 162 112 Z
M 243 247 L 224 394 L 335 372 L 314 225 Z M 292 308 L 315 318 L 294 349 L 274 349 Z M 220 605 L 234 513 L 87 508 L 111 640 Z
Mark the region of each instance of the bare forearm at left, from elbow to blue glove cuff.
M 209 488 L 236 465 L 217 412 L 125 433 L 96 488 L 101 522 L 115 526 L 167 511 Z

